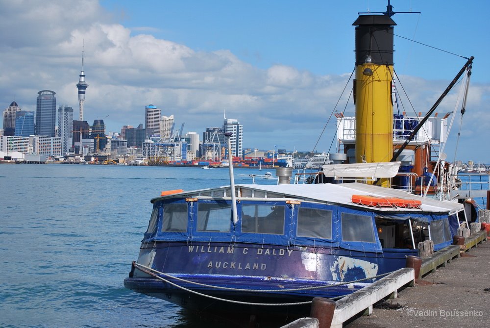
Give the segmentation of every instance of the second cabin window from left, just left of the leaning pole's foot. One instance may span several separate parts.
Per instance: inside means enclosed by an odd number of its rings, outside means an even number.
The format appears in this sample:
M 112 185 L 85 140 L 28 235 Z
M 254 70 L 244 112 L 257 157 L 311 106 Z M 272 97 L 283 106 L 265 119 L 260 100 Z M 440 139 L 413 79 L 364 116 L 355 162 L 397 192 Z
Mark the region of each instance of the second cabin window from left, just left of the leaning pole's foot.
M 228 232 L 231 224 L 231 206 L 226 203 L 199 203 L 197 231 Z

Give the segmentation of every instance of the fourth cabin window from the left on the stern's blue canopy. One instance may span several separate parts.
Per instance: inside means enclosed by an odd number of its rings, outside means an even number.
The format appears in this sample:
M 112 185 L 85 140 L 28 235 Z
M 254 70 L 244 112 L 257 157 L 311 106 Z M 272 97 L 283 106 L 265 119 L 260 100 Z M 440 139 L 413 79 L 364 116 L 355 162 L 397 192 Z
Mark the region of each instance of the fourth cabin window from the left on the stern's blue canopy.
M 332 239 L 332 211 L 300 207 L 296 235 L 298 237 Z

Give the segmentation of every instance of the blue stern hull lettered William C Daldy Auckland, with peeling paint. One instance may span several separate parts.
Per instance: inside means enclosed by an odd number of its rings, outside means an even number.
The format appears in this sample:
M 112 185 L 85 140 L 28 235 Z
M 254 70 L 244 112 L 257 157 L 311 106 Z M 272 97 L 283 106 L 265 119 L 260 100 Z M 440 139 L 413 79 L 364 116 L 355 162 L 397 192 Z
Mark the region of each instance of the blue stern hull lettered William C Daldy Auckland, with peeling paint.
M 333 298 L 352 293 L 405 266 L 414 252 L 356 252 L 335 248 L 281 247 L 256 244 L 158 242 L 142 248 L 139 264 L 185 281 L 162 276 L 179 287 L 207 296 L 246 303 L 309 302 L 314 297 Z M 152 258 L 152 260 L 150 260 Z M 147 261 L 147 263 L 145 263 Z M 371 279 L 366 279 L 371 278 Z M 365 279 L 358 282 L 352 282 Z M 264 306 L 229 303 L 193 294 L 133 268 L 124 286 L 175 303 L 194 312 L 242 314 L 295 313 L 308 315 L 310 305 Z M 222 290 L 212 286 L 254 290 Z M 348 284 L 307 290 L 290 289 Z M 257 291 L 258 290 L 258 291 Z M 267 292 L 270 290 L 270 292 Z

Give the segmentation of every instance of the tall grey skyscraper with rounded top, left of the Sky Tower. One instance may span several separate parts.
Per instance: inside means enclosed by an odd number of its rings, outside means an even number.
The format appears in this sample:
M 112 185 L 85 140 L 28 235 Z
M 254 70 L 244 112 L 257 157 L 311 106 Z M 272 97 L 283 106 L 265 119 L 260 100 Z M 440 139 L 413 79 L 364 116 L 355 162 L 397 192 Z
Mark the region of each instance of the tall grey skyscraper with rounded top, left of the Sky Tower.
M 36 135 L 54 137 L 56 126 L 56 93 L 51 90 L 39 91 L 36 106 Z

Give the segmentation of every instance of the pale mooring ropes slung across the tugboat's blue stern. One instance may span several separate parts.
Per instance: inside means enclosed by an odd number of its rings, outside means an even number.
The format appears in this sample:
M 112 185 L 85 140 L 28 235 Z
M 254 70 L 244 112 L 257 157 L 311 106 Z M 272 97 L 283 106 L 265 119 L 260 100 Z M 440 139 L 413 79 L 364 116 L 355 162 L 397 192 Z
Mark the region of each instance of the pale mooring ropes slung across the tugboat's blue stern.
M 311 290 L 311 289 L 320 289 L 320 288 L 327 288 L 327 287 L 334 287 L 334 286 L 346 285 L 346 284 L 360 282 L 360 281 L 364 281 L 364 280 L 369 280 L 369 279 L 375 279 L 375 278 L 384 277 L 384 276 L 387 276 L 387 275 L 389 275 L 389 274 L 391 274 L 391 273 L 394 272 L 394 271 L 392 271 L 392 272 L 384 273 L 384 274 L 377 275 L 377 276 L 374 276 L 374 277 L 362 278 L 362 279 L 357 279 L 357 280 L 352 280 L 352 281 L 346 281 L 346 282 L 339 282 L 339 283 L 335 283 L 335 284 L 328 284 L 328 285 L 322 285 L 322 286 L 312 286 L 312 287 L 302 287 L 302 288 L 292 288 L 292 289 L 258 290 L 258 289 L 241 289 L 241 288 L 231 288 L 231 287 L 221 287 L 221 286 L 208 285 L 208 284 L 199 283 L 199 282 L 195 282 L 195 281 L 191 281 L 191 280 L 186 280 L 186 279 L 183 279 L 183 278 L 178 278 L 178 277 L 175 277 L 175 276 L 172 276 L 172 275 L 169 275 L 169 274 L 160 272 L 158 270 L 152 269 L 150 267 L 147 267 L 145 265 L 142 265 L 142 264 L 139 264 L 139 263 L 136 263 L 136 262 L 134 262 L 134 266 L 136 268 L 138 268 L 140 271 L 142 271 L 142 272 L 144 272 L 144 273 L 146 273 L 146 274 L 148 274 L 148 275 L 150 275 L 150 276 L 152 276 L 154 278 L 157 278 L 159 280 L 162 280 L 164 282 L 167 282 L 167 283 L 171 284 L 174 287 L 177 287 L 179 289 L 185 290 L 187 292 L 190 292 L 190 293 L 193 293 L 193 294 L 196 294 L 196 295 L 199 295 L 199 296 L 207 297 L 207 298 L 218 300 L 218 301 L 229 302 L 229 303 L 237 303 L 237 304 L 245 304 L 245 305 L 265 305 L 265 306 L 267 306 L 267 305 L 269 305 L 269 306 L 304 305 L 304 304 L 310 304 L 310 303 L 312 303 L 312 301 L 295 302 L 295 303 L 250 303 L 250 302 L 241 302 L 241 301 L 226 300 L 226 299 L 222 299 L 222 298 L 219 298 L 219 297 L 202 294 L 202 293 L 193 291 L 191 289 L 185 288 L 183 286 L 179 286 L 176 283 L 173 283 L 172 281 L 170 281 L 168 279 L 165 279 L 163 277 L 160 277 L 159 275 L 163 275 L 163 276 L 166 276 L 168 278 L 173 278 L 173 279 L 176 279 L 176 280 L 180 280 L 180 281 L 183 281 L 183 282 L 187 282 L 187 283 L 191 283 L 191 284 L 195 284 L 195 285 L 199 285 L 199 286 L 203 286 L 203 287 L 210 287 L 210 288 L 224 289 L 224 290 L 232 290 L 232 291 L 239 291 L 239 292 L 270 293 L 270 292 L 291 292 L 291 291 Z

